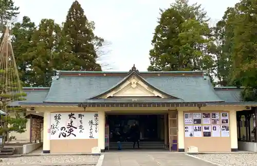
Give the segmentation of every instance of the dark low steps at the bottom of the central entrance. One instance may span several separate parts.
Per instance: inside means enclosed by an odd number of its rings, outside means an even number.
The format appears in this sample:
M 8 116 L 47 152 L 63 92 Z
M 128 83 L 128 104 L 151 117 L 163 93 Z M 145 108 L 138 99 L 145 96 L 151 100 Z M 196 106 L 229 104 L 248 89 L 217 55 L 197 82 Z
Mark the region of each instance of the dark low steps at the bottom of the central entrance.
M 164 141 L 140 141 L 140 149 L 164 149 Z M 122 149 L 132 149 L 133 142 L 121 142 Z M 110 150 L 118 148 L 117 142 L 110 142 Z M 137 148 L 137 143 L 135 145 Z

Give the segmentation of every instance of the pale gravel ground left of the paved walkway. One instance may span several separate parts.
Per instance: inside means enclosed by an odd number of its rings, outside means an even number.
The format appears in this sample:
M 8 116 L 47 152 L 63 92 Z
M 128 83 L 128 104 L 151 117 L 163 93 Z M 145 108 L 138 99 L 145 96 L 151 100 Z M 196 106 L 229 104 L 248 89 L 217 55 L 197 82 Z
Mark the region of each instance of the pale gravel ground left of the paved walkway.
M 0 162 L 0 166 L 4 165 L 36 165 L 36 164 L 75 164 L 75 163 L 97 163 L 99 156 L 88 155 L 47 155 L 47 156 L 29 156 L 29 157 L 17 157 L 17 158 L 2 158 L 3 162 Z

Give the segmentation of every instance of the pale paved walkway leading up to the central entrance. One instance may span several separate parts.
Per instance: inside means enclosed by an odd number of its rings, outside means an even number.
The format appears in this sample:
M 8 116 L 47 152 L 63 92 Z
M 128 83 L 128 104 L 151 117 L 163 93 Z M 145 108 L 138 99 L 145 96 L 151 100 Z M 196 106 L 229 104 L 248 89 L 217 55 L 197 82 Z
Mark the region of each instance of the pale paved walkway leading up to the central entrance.
M 178 153 L 105 154 L 102 166 L 216 166 Z

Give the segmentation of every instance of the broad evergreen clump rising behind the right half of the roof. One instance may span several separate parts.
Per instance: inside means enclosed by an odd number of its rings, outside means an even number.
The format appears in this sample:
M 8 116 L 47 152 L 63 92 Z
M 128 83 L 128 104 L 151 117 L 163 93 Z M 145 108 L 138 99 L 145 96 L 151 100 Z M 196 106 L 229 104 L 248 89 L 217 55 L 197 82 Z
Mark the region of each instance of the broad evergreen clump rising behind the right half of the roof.
M 150 50 L 150 71 L 208 70 L 213 45 L 206 12 L 200 5 L 177 0 L 161 10 Z

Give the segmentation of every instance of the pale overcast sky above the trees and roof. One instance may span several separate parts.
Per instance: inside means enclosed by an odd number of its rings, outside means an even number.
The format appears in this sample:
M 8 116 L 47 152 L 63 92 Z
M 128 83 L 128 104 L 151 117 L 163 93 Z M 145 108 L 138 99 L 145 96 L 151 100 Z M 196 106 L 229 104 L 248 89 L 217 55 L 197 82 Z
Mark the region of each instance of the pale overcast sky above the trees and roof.
M 14 0 L 20 6 L 21 20 L 24 15 L 39 24 L 41 19 L 65 21 L 73 0 Z M 112 42 L 109 53 L 101 63 L 109 64 L 113 71 L 128 71 L 133 64 L 139 71 L 149 66 L 149 50 L 159 8 L 165 9 L 174 1 L 169 0 L 94 0 L 79 1 L 90 21 L 96 23 L 95 34 Z M 222 18 L 227 7 L 239 0 L 191 0 L 201 4 L 211 17 L 211 24 Z

